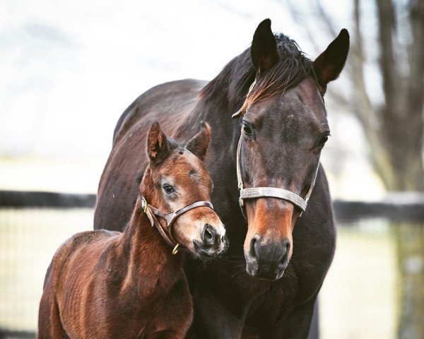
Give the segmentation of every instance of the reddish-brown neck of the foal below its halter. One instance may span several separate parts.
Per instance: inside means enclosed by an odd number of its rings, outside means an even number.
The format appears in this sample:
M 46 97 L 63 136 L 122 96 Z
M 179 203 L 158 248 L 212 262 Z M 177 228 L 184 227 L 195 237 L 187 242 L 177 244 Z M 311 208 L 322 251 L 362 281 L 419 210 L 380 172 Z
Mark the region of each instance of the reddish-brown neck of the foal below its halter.
M 132 284 L 141 285 L 142 280 L 145 294 L 154 289 L 163 275 L 170 277 L 167 280 L 172 280 L 172 277 L 177 276 L 175 272 L 182 267 L 182 254 L 171 254 L 172 248 L 144 213 L 140 197 L 137 198 L 131 220 L 122 234 L 121 245 L 122 253 L 126 252 L 124 255 L 129 261 L 126 263 L 128 270 L 124 288 Z

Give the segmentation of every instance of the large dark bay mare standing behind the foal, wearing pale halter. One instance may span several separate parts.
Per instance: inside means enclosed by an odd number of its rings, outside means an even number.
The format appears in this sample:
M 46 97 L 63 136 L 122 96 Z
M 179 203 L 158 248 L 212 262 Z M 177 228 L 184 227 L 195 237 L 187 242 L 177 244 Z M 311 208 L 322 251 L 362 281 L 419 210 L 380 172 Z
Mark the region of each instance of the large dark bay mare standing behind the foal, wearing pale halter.
M 194 134 L 202 120 L 213 129 L 206 167 L 230 247 L 206 263 L 186 257 L 194 302 L 187 338 L 307 338 L 336 235 L 319 166 L 329 137 L 323 97 L 348 48 L 348 32 L 341 30 L 311 61 L 293 40 L 274 35 L 267 19 L 252 46 L 213 81 L 158 85 L 120 117 L 100 179 L 96 229 L 120 230 L 128 218 L 153 119 L 175 138 Z M 248 193 L 242 208 L 240 182 Z M 257 188 L 265 196 L 255 195 Z

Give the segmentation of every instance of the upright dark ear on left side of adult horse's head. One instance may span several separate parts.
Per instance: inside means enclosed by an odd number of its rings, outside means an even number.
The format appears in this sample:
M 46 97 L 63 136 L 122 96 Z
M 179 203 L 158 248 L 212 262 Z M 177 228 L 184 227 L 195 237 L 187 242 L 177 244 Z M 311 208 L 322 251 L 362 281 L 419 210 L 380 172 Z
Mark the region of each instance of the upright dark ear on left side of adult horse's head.
M 259 23 L 253 35 L 250 57 L 259 73 L 271 69 L 278 61 L 276 37 L 271 30 L 271 20 Z

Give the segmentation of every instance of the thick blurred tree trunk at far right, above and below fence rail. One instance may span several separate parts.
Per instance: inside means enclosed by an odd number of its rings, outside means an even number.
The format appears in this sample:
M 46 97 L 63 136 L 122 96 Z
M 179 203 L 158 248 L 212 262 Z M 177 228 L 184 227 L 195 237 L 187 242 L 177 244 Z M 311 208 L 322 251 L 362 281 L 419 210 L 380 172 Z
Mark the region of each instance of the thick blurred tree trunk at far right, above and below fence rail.
M 409 8 L 411 44 L 408 58 L 395 59 L 396 16 L 391 0 L 377 0 L 379 16 L 379 66 L 383 76 L 381 143 L 389 154 L 393 180 L 389 191 L 424 191 L 423 97 L 424 97 L 424 1 Z M 401 47 L 402 48 L 402 47 Z M 398 51 L 399 52 L 399 51 Z M 401 54 L 398 54 L 401 55 Z M 408 70 L 401 72 L 400 64 Z M 398 338 L 423 338 L 424 333 L 424 225 L 395 225 L 399 263 L 400 314 Z

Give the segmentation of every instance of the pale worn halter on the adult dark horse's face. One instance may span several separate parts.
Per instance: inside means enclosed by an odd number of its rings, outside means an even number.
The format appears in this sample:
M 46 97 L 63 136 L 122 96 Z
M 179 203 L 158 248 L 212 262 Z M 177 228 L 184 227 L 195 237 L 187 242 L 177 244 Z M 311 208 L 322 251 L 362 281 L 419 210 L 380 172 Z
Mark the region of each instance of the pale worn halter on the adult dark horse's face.
M 256 83 L 256 80 L 252 83 L 252 85 L 250 85 L 250 88 L 249 88 L 249 91 L 247 92 L 246 97 L 254 88 L 255 83 Z M 242 109 L 239 109 L 237 112 L 235 112 L 235 114 L 232 114 L 231 117 L 232 118 L 243 117 L 244 114 L 245 112 L 242 112 Z M 237 166 L 237 184 L 240 191 L 239 204 L 245 219 L 247 218 L 245 215 L 245 210 L 243 208 L 244 207 L 243 199 L 252 199 L 252 198 L 261 198 L 261 197 L 279 198 L 286 201 L 290 201 L 290 203 L 293 203 L 295 206 L 298 206 L 300 210 L 302 210 L 299 215 L 299 218 L 300 218 L 302 216 L 302 213 L 305 212 L 306 210 L 307 201 L 309 200 L 312 194 L 312 189 L 314 189 L 315 179 L 317 179 L 317 174 L 318 174 L 319 163 L 314 174 L 314 179 L 312 180 L 310 189 L 307 191 L 305 198 L 302 198 L 301 196 L 293 193 L 292 191 L 288 191 L 287 189 L 280 189 L 278 187 L 253 187 L 253 188 L 245 189 L 243 186 L 242 170 L 240 168 L 241 167 L 240 153 L 242 148 L 241 147 L 242 138 L 243 138 L 243 126 L 242 126 L 242 131 L 240 132 L 240 139 L 237 144 L 236 166 Z

